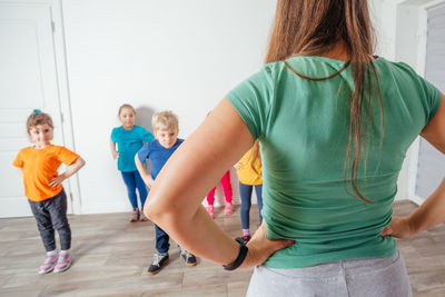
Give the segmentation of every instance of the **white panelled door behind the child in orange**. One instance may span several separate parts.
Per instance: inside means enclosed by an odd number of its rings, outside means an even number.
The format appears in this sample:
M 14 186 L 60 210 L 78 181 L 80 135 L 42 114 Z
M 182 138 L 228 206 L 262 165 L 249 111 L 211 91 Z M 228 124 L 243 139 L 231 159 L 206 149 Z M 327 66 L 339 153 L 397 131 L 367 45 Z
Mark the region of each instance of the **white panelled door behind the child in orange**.
M 51 7 L 0 2 L 0 217 L 31 215 L 12 161 L 30 146 L 26 120 L 33 109 L 52 117 L 53 143 L 63 146 L 57 77 Z

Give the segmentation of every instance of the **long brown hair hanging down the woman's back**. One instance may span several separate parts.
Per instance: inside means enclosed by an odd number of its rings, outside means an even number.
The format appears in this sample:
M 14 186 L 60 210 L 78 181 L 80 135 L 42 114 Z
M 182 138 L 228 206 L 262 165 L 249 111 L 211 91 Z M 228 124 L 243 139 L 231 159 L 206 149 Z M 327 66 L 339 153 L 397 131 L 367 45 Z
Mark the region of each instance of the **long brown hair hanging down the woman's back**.
M 333 50 L 339 42 L 347 50 L 348 61 L 345 62 L 340 70 L 329 77 L 306 77 L 291 69 L 285 61 L 294 56 L 320 56 Z M 372 98 L 375 87 L 380 109 L 382 131 L 384 131 L 383 102 L 372 58 L 373 51 L 374 31 L 366 0 L 278 0 L 265 61 L 266 63 L 285 61 L 286 66 L 295 75 L 315 81 L 330 79 L 347 67 L 353 68 L 355 89 L 349 98 L 349 133 L 344 182 L 347 191 L 346 176 L 352 155 L 350 179 L 354 192 L 362 200 L 369 204 L 373 201 L 366 199 L 358 189 L 357 174 L 362 155 L 362 141 L 369 139 L 373 127 Z M 364 121 L 366 121 L 365 132 L 363 129 Z M 380 146 L 382 141 L 383 132 Z

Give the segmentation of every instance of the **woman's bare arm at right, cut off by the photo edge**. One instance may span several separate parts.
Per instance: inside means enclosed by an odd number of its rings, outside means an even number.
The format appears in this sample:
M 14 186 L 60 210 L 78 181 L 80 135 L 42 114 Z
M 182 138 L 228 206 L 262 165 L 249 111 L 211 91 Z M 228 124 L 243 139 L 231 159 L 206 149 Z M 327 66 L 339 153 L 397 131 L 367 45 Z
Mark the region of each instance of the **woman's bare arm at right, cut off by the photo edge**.
M 441 95 L 441 105 L 434 118 L 421 132 L 429 143 L 445 154 L 445 96 Z M 382 236 L 392 235 L 399 238 L 412 238 L 418 232 L 445 221 L 445 179 L 437 189 L 408 217 L 394 217 Z

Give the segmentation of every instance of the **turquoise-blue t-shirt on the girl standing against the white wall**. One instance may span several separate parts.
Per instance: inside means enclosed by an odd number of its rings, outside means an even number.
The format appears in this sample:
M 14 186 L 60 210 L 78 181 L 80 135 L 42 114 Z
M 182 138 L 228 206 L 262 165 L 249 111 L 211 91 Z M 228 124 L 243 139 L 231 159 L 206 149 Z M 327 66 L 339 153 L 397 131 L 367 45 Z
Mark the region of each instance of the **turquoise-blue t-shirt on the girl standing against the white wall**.
M 120 171 L 136 171 L 135 155 L 144 146 L 145 142 L 150 142 L 155 137 L 144 127 L 135 126 L 131 130 L 126 130 L 116 127 L 111 131 L 111 141 L 118 143 L 118 169 Z

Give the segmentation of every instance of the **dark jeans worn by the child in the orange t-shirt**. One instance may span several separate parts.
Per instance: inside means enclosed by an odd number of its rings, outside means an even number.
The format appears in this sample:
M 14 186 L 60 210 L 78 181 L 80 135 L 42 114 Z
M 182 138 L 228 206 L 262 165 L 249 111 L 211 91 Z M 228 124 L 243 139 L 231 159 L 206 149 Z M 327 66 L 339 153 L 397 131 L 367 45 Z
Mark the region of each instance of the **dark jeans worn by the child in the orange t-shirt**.
M 71 248 L 71 229 L 67 218 L 67 195 L 61 192 L 43 201 L 28 200 L 47 251 L 56 249 L 55 230 L 59 232 L 60 249 Z

